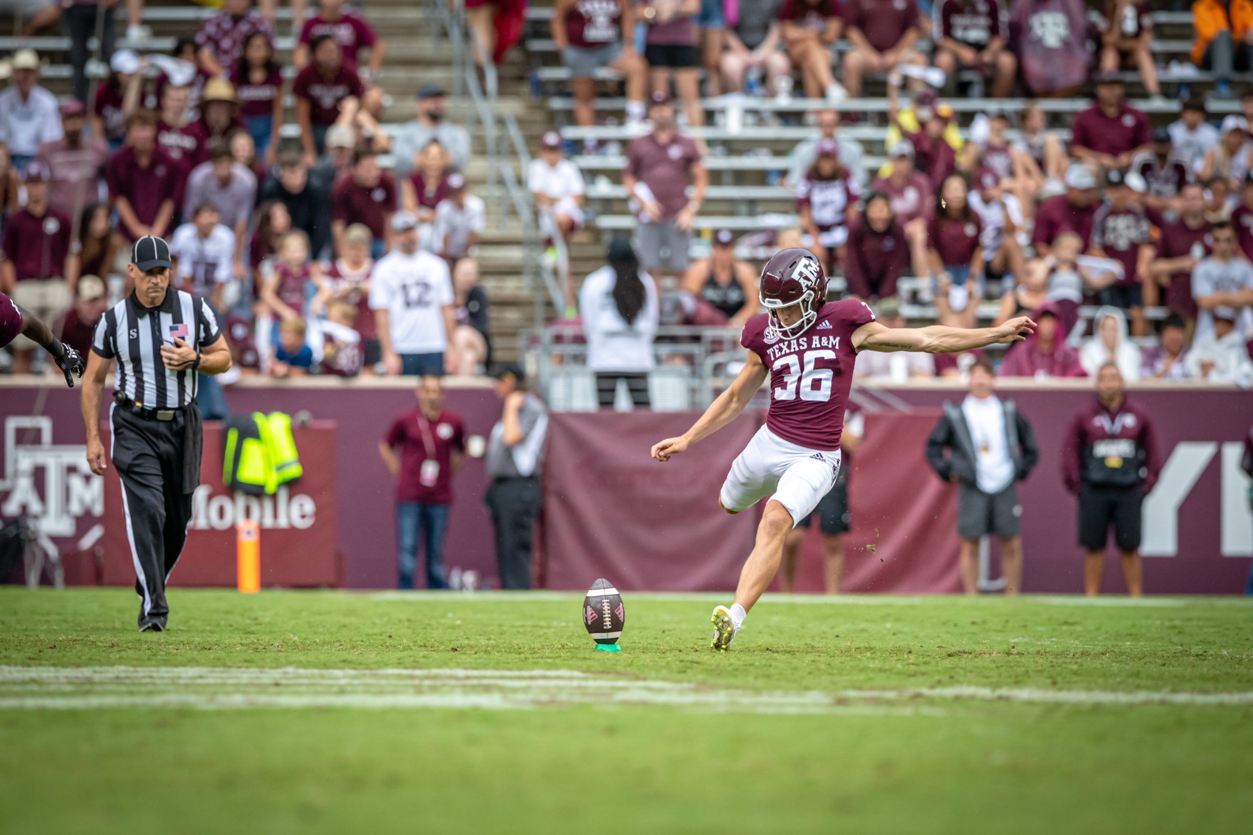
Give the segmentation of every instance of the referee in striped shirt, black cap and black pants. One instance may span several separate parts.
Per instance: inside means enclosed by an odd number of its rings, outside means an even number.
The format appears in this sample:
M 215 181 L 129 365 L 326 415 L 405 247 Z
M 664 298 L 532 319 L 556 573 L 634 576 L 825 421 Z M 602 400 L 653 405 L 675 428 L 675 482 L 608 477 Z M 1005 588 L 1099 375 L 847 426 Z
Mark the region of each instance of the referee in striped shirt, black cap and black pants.
M 209 305 L 170 288 L 164 240 L 137 240 L 127 274 L 134 292 L 105 312 L 91 339 L 83 422 L 88 463 L 104 474 L 100 392 L 109 362 L 115 362 L 109 454 L 122 482 L 135 591 L 143 598 L 139 631 L 162 632 L 169 616 L 165 581 L 183 550 L 192 493 L 200 483 L 197 371 L 221 374 L 231 368 L 231 351 Z

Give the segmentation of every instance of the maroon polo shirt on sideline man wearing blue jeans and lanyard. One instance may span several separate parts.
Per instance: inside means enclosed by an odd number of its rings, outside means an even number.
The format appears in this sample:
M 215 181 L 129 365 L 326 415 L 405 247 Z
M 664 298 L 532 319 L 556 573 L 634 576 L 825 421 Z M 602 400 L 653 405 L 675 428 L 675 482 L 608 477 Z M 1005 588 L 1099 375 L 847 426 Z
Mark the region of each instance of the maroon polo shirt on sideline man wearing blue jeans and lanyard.
M 451 412 L 440 412 L 439 419 L 432 422 L 421 409 L 405 412 L 392 422 L 385 442 L 393 449 L 400 447 L 397 502 L 452 503 L 452 453 L 465 452 L 461 418 Z M 424 484 L 422 463 L 426 461 L 435 461 L 439 469 L 434 479 L 429 478 L 429 483 Z

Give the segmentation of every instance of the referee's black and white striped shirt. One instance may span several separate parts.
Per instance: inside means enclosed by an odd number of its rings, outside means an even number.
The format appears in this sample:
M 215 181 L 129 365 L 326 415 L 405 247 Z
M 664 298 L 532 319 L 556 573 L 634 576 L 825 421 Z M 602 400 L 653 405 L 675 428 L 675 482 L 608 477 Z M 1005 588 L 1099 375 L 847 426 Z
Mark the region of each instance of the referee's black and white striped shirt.
M 109 308 L 95 325 L 91 351 L 117 361 L 115 389 L 149 409 L 172 409 L 195 399 L 194 371 L 169 371 L 160 359 L 162 344 L 182 337 L 192 348 L 218 341 L 218 319 L 204 299 L 175 290 L 155 308 L 145 308 L 132 293 Z

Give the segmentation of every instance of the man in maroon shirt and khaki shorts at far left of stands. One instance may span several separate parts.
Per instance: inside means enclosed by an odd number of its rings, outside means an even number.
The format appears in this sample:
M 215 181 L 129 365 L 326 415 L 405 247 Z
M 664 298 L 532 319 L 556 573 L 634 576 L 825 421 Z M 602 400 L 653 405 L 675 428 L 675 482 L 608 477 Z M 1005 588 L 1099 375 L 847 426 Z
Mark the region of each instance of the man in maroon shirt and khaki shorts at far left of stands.
M 50 178 L 43 163 L 28 163 L 21 173 L 26 208 L 9 217 L 0 244 L 0 292 L 43 322 L 69 309 L 78 283 L 78 255 L 70 254 L 70 219 L 48 205 Z M 30 373 L 38 346 L 26 337 L 19 337 L 13 346 L 14 373 Z

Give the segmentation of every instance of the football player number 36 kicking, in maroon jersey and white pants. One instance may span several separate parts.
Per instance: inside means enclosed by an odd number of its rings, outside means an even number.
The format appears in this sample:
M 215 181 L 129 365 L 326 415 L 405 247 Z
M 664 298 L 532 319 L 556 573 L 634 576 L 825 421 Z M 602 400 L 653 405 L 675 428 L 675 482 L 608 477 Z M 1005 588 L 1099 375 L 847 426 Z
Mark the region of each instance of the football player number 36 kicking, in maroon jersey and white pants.
M 995 343 L 1020 342 L 1035 328 L 1027 317 L 999 328 L 887 328 L 863 302 L 827 303 L 827 278 L 807 249 L 784 249 L 762 270 L 761 302 L 767 313 L 744 324 L 748 348 L 743 371 L 687 433 L 653 447 L 669 461 L 730 423 L 771 377 L 766 426 L 734 463 L 718 503 L 739 513 L 772 496 L 757 527 L 757 542 L 739 572 L 736 602 L 713 610 L 713 648 L 725 650 L 748 610 L 778 571 L 783 540 L 827 494 L 840 472 L 840 434 L 858 351 L 957 353 Z

